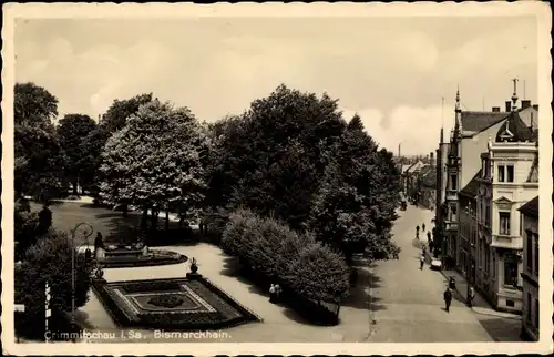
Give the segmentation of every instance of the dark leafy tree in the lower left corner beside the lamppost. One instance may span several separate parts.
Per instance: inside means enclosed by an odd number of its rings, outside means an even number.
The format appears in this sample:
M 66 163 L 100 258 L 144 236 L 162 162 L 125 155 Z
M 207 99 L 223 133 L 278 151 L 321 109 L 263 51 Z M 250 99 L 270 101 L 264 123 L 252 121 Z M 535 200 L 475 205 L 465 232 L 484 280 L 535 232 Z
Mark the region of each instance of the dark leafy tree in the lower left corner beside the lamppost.
M 72 306 L 73 246 L 64 233 L 51 230 L 24 254 L 16 269 L 16 300 L 25 306 L 27 329 L 44 336 L 44 286 L 50 285 L 52 316 L 70 312 Z M 84 306 L 90 288 L 90 266 L 79 257 L 75 269 L 75 307 Z

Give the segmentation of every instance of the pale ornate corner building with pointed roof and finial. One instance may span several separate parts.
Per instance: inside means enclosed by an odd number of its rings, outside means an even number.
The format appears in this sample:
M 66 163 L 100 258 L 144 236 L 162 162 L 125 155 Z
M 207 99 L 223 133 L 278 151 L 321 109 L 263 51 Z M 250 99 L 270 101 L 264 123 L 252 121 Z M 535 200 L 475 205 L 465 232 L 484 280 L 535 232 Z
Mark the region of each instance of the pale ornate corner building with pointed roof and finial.
M 538 147 L 534 131 L 515 109 L 515 93 L 512 100 L 512 112 L 481 155 L 473 257 L 475 287 L 482 295 L 496 309 L 521 312 L 523 239 L 517 208 L 537 195 L 533 172 Z

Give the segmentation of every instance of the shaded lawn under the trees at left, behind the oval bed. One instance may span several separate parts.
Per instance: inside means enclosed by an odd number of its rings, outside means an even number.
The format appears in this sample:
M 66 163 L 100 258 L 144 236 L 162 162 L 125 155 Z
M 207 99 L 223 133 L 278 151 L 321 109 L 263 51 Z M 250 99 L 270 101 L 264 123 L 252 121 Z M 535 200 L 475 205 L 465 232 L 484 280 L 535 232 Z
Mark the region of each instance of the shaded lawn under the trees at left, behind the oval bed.
M 31 202 L 31 210 L 38 212 L 41 208 L 40 204 Z M 129 212 L 127 217 L 124 217 L 120 211 L 98 207 L 90 203 L 57 202 L 50 205 L 50 211 L 52 211 L 52 226 L 58 231 L 65 232 L 69 236 L 75 225 L 81 222 L 89 223 L 94 230 L 92 236 L 89 237 L 91 245 L 94 244 L 96 232 L 102 234 L 104 243 L 117 244 L 127 236 L 130 227 L 138 227 L 141 224 L 140 212 Z M 161 214 L 158 230 L 163 230 L 164 224 L 165 216 Z M 170 222 L 170 228 L 177 226 L 178 223 Z M 75 237 L 76 245 L 83 243 L 85 239 L 82 236 Z

